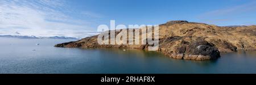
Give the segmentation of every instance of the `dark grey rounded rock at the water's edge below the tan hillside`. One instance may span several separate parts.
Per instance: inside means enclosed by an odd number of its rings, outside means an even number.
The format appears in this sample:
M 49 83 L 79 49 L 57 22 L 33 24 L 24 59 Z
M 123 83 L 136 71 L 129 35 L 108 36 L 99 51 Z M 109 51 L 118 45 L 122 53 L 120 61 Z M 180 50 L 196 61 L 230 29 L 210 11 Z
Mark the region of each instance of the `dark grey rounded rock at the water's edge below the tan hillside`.
M 218 49 L 216 47 L 213 47 L 212 44 L 208 43 L 207 41 L 191 42 L 187 46 L 185 53 L 189 55 L 201 55 L 200 58 L 202 59 L 204 59 L 205 57 L 210 59 L 217 59 L 218 57 L 220 57 L 220 52 L 218 51 Z

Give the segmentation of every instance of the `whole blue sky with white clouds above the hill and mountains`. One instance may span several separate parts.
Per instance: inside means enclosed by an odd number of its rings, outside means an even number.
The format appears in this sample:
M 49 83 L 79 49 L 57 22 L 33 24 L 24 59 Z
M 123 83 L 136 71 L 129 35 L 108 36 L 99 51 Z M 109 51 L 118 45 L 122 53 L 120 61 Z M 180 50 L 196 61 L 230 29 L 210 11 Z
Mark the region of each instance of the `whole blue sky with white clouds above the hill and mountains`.
M 255 0 L 1 0 L 0 35 L 88 37 L 97 26 L 170 20 L 256 25 Z

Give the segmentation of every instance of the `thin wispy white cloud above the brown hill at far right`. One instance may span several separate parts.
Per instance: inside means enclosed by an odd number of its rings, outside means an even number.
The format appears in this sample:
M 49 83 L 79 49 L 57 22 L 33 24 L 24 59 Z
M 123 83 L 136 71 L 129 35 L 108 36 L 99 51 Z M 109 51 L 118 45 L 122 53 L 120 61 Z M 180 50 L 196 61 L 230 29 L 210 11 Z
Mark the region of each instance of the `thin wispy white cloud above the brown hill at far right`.
M 207 23 L 223 23 L 227 21 L 241 20 L 243 18 L 248 18 L 250 15 L 243 14 L 251 14 L 256 12 L 256 2 L 251 1 L 249 3 L 245 3 L 242 5 L 232 6 L 221 8 L 209 12 L 205 12 L 198 16 L 198 18 Z

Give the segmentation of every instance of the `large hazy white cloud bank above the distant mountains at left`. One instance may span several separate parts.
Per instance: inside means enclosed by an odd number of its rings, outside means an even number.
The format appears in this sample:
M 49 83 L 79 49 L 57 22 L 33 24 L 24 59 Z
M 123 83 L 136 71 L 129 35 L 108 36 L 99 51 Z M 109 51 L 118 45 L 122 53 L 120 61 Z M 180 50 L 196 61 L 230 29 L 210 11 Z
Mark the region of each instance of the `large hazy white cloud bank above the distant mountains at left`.
M 88 21 L 73 19 L 72 16 L 65 15 L 65 11 L 71 11 L 65 1 L 1 0 L 0 34 L 19 32 L 22 35 L 84 37 L 76 33 L 49 33 L 91 29 Z

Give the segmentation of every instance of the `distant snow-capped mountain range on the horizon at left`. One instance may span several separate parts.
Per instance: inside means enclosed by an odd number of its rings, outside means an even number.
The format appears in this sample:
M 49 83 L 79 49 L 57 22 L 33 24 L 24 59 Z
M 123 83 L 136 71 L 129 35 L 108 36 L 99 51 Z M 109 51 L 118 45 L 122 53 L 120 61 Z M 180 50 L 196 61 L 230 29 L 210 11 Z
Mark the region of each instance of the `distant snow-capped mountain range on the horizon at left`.
M 80 39 L 75 37 L 59 37 L 59 36 L 53 36 L 53 37 L 36 37 L 34 35 L 28 36 L 28 35 L 0 35 L 0 37 L 5 38 L 20 38 L 20 39 Z

